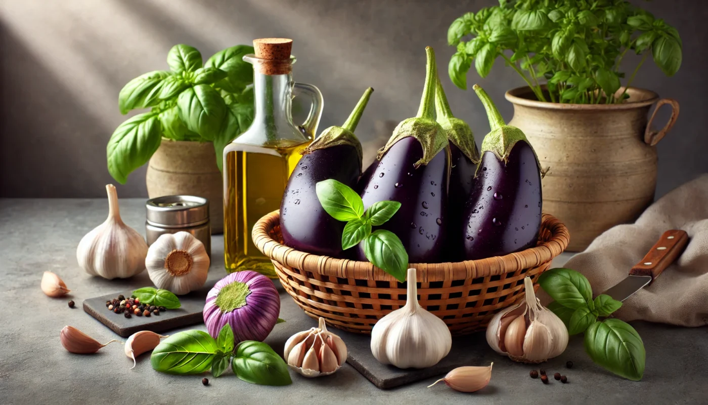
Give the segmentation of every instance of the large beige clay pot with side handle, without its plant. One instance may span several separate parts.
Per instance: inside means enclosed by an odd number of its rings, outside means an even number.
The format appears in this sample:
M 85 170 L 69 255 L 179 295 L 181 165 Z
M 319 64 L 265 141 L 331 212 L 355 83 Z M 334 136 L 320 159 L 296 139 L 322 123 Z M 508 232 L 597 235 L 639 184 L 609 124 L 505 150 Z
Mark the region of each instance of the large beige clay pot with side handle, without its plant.
M 623 104 L 557 104 L 536 101 L 528 87 L 506 92 L 514 105 L 509 125 L 524 131 L 542 170 L 548 169 L 543 211 L 568 227 L 567 250 L 584 250 L 612 226 L 634 221 L 653 201 L 654 145 L 675 123 L 678 102 L 634 87 L 627 94 Z M 671 106 L 671 118 L 661 131 L 652 131 L 651 121 L 663 104 Z

